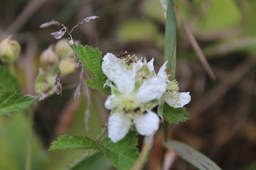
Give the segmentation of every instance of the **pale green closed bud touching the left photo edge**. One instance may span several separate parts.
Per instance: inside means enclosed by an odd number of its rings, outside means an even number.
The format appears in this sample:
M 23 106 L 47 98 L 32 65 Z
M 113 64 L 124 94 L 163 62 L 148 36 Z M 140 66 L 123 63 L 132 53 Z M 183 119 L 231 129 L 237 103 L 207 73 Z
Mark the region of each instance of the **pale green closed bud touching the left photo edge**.
M 14 63 L 21 52 L 21 46 L 11 35 L 0 43 L 0 59 L 2 62 Z

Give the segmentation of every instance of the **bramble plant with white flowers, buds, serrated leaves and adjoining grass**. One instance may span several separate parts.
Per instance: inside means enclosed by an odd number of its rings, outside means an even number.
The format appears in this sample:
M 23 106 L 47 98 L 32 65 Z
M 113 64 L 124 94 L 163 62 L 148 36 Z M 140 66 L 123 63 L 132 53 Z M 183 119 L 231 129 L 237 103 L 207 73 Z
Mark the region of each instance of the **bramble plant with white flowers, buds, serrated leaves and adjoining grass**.
M 102 56 L 99 48 L 76 42 L 72 37 L 74 28 L 97 19 L 97 16 L 85 18 L 70 31 L 58 21 L 43 23 L 41 28 L 53 25 L 61 28 L 50 33 L 59 41 L 55 45 L 49 45 L 41 54 L 41 68 L 35 81 L 37 96 L 21 94 L 14 78 L 15 74 L 9 74 L 6 68 L 0 67 L 0 115 L 21 111 L 36 102 L 36 99 L 41 101 L 54 93 L 61 96 L 61 77 L 72 74 L 75 69 L 81 67 L 80 83 L 74 98 L 80 96 L 81 86 L 85 86 L 82 83 L 84 81 L 91 89 L 107 94 L 105 108 L 110 110 L 107 125 L 97 140 L 86 136 L 62 135 L 52 142 L 50 150 L 85 149 L 86 155 L 82 157 L 85 161 L 97 154 L 104 154 L 117 169 L 142 169 L 159 125 L 163 125 L 165 133 L 168 134 L 169 124 L 178 124 L 189 118 L 184 106 L 191 101 L 190 93 L 179 92 L 178 81 L 175 79 L 175 8 L 174 1 L 170 0 L 166 6 L 166 61 L 158 72 L 155 71 L 154 58 L 147 62 L 145 57 L 129 52 L 117 56 L 107 52 Z M 68 39 L 63 39 L 66 34 Z M 1 61 L 13 64 L 18 58 L 19 50 L 18 42 L 11 40 L 11 37 L 3 40 L 0 44 Z M 84 72 L 90 74 L 90 79 L 84 79 Z M 6 90 L 6 87 L 9 90 Z M 143 152 L 138 149 L 139 135 L 144 136 Z M 198 169 L 220 169 L 203 154 L 181 142 L 166 138 L 163 148 L 172 149 Z M 164 154 L 165 161 L 168 153 Z M 78 164 L 80 162 L 73 164 L 73 167 Z

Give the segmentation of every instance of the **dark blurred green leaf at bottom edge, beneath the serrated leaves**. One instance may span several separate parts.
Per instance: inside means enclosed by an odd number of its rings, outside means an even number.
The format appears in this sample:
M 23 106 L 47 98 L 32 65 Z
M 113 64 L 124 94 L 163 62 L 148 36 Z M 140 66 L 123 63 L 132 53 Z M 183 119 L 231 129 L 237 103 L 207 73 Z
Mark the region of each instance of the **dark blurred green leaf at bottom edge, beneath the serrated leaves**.
M 110 170 L 112 169 L 112 164 L 108 162 L 102 152 L 85 152 L 82 157 L 75 160 L 72 164 L 68 166 L 69 170 Z

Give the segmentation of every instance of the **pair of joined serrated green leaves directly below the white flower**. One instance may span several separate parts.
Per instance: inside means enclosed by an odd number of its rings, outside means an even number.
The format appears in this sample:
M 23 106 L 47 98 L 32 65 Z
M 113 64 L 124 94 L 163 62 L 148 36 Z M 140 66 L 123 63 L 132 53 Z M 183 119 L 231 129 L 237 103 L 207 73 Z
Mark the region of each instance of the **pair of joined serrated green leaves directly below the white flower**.
M 129 132 L 123 140 L 113 143 L 108 137 L 105 137 L 99 145 L 94 140 L 88 137 L 75 136 L 75 135 L 63 135 L 58 137 L 51 146 L 53 149 L 92 149 L 100 150 L 105 157 L 117 167 L 117 169 L 131 169 L 135 160 L 139 155 L 137 149 L 137 134 L 135 132 Z M 92 154 L 93 155 L 93 154 Z M 83 164 L 87 164 L 90 160 L 88 156 L 87 160 L 83 160 Z M 84 159 L 85 159 L 84 158 Z M 100 159 L 100 158 L 99 158 Z

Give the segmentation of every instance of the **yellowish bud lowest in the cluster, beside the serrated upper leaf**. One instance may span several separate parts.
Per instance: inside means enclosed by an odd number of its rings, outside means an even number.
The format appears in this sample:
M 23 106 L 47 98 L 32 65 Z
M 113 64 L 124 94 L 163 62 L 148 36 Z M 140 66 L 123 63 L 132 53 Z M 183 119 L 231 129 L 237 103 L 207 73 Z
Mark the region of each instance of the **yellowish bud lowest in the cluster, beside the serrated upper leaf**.
M 75 72 L 77 62 L 75 57 L 68 57 L 67 60 L 63 60 L 60 63 L 60 72 L 62 75 L 68 75 Z

